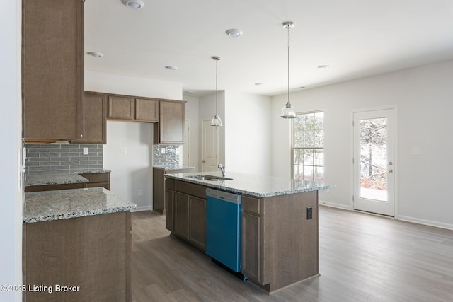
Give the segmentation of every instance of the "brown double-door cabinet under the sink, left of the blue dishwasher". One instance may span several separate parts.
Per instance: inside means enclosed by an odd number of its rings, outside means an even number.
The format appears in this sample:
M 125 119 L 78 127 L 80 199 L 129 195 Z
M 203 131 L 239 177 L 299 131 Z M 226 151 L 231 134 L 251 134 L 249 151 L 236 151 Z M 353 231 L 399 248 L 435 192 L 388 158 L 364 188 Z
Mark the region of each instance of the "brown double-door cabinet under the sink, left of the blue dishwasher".
M 166 228 L 205 252 L 206 187 L 166 180 Z

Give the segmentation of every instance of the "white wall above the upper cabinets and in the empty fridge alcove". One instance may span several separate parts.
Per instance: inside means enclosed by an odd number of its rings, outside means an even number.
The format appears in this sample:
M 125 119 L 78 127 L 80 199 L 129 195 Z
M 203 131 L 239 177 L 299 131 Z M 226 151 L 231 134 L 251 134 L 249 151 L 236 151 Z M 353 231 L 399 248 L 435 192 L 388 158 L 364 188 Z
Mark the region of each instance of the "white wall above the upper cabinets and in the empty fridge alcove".
M 85 90 L 182 99 L 178 84 L 93 71 L 85 71 Z M 137 204 L 138 211 L 151 209 L 152 205 L 152 144 L 153 124 L 107 122 L 103 166 L 112 171 L 110 190 Z M 127 154 L 122 154 L 122 148 Z M 138 190 L 142 190 L 141 196 Z

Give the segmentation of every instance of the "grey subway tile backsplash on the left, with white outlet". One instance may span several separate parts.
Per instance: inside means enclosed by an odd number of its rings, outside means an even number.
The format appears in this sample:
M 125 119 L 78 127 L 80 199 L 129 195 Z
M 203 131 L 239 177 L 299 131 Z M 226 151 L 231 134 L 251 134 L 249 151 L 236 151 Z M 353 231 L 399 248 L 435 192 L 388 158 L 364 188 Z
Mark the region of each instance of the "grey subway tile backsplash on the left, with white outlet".
M 84 148 L 88 154 L 84 155 Z M 28 144 L 25 145 L 25 176 L 65 174 L 103 169 L 103 145 Z

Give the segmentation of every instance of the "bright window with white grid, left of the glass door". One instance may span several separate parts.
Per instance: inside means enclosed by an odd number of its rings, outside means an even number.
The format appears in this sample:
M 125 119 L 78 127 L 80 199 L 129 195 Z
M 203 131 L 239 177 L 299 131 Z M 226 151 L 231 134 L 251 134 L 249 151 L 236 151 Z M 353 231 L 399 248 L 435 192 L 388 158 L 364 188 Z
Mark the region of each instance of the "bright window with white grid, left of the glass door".
M 299 113 L 293 129 L 293 176 L 324 181 L 324 112 Z

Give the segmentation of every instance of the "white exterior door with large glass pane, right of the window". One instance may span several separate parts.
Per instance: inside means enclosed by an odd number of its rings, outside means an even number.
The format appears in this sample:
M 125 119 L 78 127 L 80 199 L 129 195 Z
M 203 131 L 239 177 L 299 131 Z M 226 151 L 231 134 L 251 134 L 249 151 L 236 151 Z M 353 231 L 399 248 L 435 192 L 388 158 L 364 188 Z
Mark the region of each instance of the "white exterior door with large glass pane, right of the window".
M 395 215 L 394 108 L 353 113 L 353 208 Z

